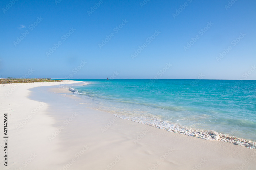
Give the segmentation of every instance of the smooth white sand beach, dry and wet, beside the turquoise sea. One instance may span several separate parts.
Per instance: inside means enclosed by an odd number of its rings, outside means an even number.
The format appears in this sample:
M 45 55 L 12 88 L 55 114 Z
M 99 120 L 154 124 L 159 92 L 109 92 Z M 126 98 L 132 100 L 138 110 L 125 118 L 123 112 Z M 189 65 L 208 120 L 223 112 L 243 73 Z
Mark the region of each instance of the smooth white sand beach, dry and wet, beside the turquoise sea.
M 3 113 L 8 113 L 9 136 L 8 167 L 3 166 L 1 156 L 2 169 L 256 169 L 255 149 L 120 119 L 84 107 L 82 103 L 90 101 L 81 101 L 72 92 L 56 86 L 48 91 L 40 90 L 45 87 L 30 89 L 62 83 L 0 84 L 0 127 L 3 129 Z M 17 88 L 6 97 L 5 93 L 13 85 Z M 68 92 L 69 95 L 62 94 Z M 41 108 L 40 101 L 45 103 Z M 33 115 L 31 110 L 36 108 L 40 110 Z M 17 130 L 29 115 L 31 119 Z M 65 121 L 68 119 L 70 121 Z M 113 124 L 102 133 L 109 122 Z M 56 128 L 61 126 L 58 134 Z M 3 139 L 3 130 L 1 132 Z M 58 135 L 55 137 L 52 133 Z M 134 139 L 138 141 L 135 143 Z M 4 155 L 3 142 L 0 144 L 1 155 Z

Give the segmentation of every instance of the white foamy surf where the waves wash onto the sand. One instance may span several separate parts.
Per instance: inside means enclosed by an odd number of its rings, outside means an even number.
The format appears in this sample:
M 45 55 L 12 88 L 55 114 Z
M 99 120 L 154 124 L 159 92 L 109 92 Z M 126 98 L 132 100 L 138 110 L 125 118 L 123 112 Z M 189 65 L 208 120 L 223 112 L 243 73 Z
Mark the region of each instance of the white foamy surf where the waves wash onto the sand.
M 90 82 L 86 82 L 85 85 L 87 85 L 87 84 L 90 84 Z M 73 92 L 74 94 L 77 94 L 79 97 L 82 97 L 82 96 L 88 97 L 87 95 L 84 95 L 84 93 L 81 93 L 80 90 L 78 90 L 79 88 L 76 89 L 73 87 L 66 87 L 66 89 Z M 63 93 L 65 93 L 65 91 L 63 91 Z M 92 108 L 92 109 L 96 109 L 96 108 Z M 133 115 L 123 115 L 122 113 L 120 113 L 120 114 L 113 113 L 111 110 L 104 110 L 104 109 L 98 109 L 98 108 L 96 110 L 108 112 L 108 113 L 115 115 L 116 117 L 121 118 L 121 119 L 126 119 L 126 120 L 131 120 L 134 122 L 146 124 L 148 126 L 167 130 L 169 132 L 185 134 L 188 136 L 193 136 L 193 137 L 205 139 L 205 140 L 229 142 L 229 143 L 244 146 L 244 147 L 247 147 L 250 149 L 256 149 L 256 141 L 254 141 L 252 139 L 242 138 L 241 136 L 240 137 L 232 136 L 230 134 L 218 132 L 218 131 L 212 130 L 212 129 L 200 129 L 200 128 L 186 127 L 186 126 L 183 126 L 178 123 L 173 123 L 170 121 L 162 120 L 160 117 L 157 117 L 156 115 L 152 115 L 152 114 L 150 115 L 150 117 L 136 117 Z M 123 109 L 123 110 L 125 110 L 125 109 Z

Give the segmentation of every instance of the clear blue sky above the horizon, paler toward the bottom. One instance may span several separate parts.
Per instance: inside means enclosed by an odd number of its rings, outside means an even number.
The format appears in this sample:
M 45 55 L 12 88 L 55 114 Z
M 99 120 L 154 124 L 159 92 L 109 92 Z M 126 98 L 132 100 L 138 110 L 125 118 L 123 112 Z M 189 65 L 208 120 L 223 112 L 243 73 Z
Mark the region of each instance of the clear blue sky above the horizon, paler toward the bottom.
M 1 0 L 0 8 L 2 77 L 256 79 L 255 0 Z

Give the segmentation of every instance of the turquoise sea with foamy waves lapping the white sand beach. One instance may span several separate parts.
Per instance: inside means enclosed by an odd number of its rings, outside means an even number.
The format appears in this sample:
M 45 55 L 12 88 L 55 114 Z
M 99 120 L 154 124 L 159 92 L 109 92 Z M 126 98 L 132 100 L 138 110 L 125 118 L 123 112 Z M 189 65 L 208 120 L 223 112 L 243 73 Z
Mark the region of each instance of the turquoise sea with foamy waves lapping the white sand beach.
M 256 148 L 256 80 L 72 79 L 90 107 L 206 140 Z

